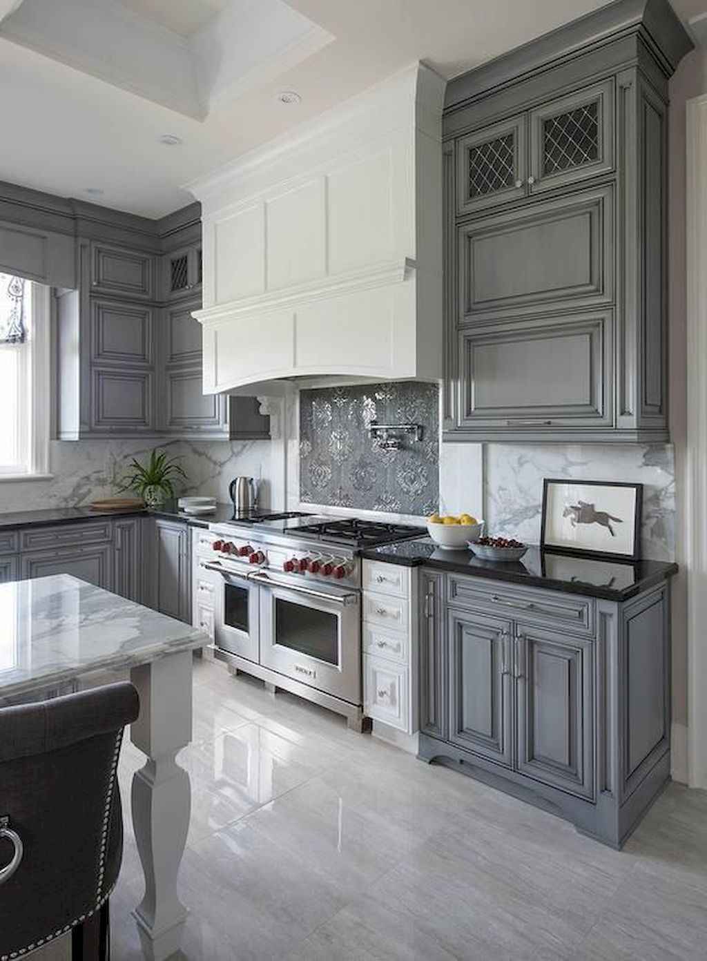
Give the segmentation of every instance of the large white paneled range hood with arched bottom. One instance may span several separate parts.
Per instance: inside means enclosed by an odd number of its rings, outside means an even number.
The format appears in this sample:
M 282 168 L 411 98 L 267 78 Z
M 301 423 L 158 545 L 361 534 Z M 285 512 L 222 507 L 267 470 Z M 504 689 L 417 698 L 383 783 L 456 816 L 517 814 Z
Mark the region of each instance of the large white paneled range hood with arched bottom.
M 189 185 L 205 393 L 441 378 L 444 87 L 416 63 Z

